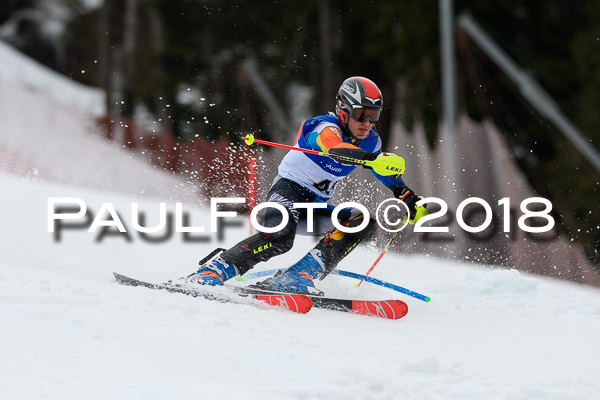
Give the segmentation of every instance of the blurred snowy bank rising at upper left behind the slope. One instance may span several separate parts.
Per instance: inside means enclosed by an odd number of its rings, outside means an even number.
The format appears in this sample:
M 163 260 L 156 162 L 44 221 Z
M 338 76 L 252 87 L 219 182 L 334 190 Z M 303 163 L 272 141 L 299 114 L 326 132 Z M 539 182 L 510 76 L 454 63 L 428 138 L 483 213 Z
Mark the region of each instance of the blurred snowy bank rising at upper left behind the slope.
M 101 137 L 104 94 L 0 41 L 0 172 L 200 203 L 198 188 Z

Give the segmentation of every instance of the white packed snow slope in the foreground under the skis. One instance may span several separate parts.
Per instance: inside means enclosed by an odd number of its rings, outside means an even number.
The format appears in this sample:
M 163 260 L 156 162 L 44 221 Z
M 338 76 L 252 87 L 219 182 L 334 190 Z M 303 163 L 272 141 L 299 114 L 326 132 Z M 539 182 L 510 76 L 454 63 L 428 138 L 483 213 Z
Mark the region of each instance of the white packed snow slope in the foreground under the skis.
M 516 271 L 388 253 L 374 276 L 430 303 L 332 276 L 328 294 L 398 297 L 398 321 L 313 309 L 273 309 L 130 288 L 111 272 L 163 281 L 194 270 L 223 242 L 161 244 L 86 230 L 47 232 L 47 198 L 111 202 L 131 226 L 131 202 L 158 200 L 0 176 L 0 392 L 6 399 L 593 399 L 600 393 L 600 293 Z M 186 208 L 194 226 L 205 210 Z M 105 218 L 108 219 L 108 218 Z M 150 223 L 155 221 L 150 220 Z M 292 263 L 312 245 L 258 268 Z M 365 272 L 375 249 L 340 268 Z M 329 282 L 328 282 L 329 281 Z

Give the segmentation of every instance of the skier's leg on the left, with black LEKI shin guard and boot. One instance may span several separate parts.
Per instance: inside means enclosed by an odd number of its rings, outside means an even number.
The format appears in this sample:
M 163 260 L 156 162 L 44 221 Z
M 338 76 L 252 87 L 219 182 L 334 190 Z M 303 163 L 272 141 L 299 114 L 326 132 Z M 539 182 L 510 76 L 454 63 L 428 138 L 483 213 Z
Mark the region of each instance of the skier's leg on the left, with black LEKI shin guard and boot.
M 287 179 L 275 181 L 267 195 L 267 201 L 281 204 L 287 213 L 288 222 L 274 233 L 257 233 L 242 240 L 224 251 L 209 263 L 203 265 L 189 280 L 200 284 L 222 285 L 224 281 L 244 274 L 261 261 L 288 252 L 296 236 L 296 226 L 300 218 L 293 203 L 312 202 L 315 195 L 302 186 Z M 277 209 L 268 208 L 264 225 L 268 228 L 281 223 L 283 215 Z

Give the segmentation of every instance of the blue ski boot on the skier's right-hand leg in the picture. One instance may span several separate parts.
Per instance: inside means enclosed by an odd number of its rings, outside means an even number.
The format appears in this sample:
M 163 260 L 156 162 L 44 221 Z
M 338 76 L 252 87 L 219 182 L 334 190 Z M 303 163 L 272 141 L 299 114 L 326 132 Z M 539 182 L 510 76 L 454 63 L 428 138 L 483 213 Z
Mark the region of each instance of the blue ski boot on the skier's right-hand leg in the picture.
M 315 287 L 313 279 L 325 271 L 325 264 L 318 249 L 309 251 L 300 261 L 285 271 L 279 271 L 273 278 L 256 285 L 257 288 L 286 293 L 300 293 L 323 296 Z

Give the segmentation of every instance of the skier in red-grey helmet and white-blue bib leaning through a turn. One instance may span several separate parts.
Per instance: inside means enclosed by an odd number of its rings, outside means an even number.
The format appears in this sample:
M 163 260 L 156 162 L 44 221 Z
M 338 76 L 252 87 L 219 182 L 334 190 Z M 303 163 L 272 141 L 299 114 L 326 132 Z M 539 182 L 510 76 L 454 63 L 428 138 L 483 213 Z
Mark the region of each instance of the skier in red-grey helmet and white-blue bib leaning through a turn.
M 364 77 L 346 79 L 337 93 L 336 112 L 306 120 L 300 130 L 296 146 L 360 160 L 385 157 L 381 139 L 373 126 L 379 121 L 383 97 L 371 80 Z M 389 153 L 387 153 L 389 155 Z M 287 210 L 289 220 L 276 233 L 257 233 L 208 261 L 187 277 L 187 282 L 203 285 L 223 285 L 225 281 L 246 273 L 261 261 L 286 253 L 292 248 L 298 225 L 306 218 L 306 209 L 296 209 L 293 203 L 327 202 L 338 182 L 350 174 L 356 165 L 342 164 L 331 158 L 290 151 L 279 165 L 279 175 L 267 194 L 267 201 L 276 202 Z M 371 171 L 394 196 L 409 208 L 410 223 L 414 224 L 427 214 L 424 206 L 417 208 L 417 196 L 401 176 L 382 176 Z M 316 209 L 315 215 L 331 215 L 328 209 Z M 419 211 L 419 212 L 417 212 Z M 325 213 L 325 214 L 323 214 Z M 340 223 L 356 227 L 363 222 L 363 214 L 356 209 L 345 209 L 338 214 Z M 281 212 L 268 208 L 264 226 L 275 227 L 282 221 Z M 375 220 L 370 219 L 360 232 L 344 233 L 331 229 L 300 261 L 263 282 L 262 287 L 286 292 L 319 293 L 313 279 L 323 279 L 356 245 L 369 235 Z

